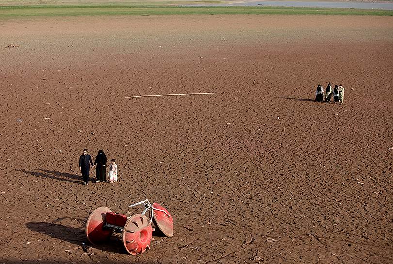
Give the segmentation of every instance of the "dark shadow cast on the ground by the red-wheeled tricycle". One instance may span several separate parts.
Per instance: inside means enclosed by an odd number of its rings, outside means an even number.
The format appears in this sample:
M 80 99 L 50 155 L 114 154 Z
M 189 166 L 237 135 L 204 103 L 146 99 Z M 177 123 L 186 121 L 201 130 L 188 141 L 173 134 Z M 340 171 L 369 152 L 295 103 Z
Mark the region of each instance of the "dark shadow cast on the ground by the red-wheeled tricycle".
M 57 238 L 63 241 L 68 241 L 69 243 L 83 247 L 86 246 L 93 247 L 98 250 L 126 254 L 126 249 L 124 249 L 121 236 L 113 233 L 110 239 L 100 245 L 92 245 L 86 238 L 84 229 L 67 227 L 61 224 L 47 223 L 47 222 L 28 222 L 26 227 L 32 231 L 36 231 L 53 238 Z

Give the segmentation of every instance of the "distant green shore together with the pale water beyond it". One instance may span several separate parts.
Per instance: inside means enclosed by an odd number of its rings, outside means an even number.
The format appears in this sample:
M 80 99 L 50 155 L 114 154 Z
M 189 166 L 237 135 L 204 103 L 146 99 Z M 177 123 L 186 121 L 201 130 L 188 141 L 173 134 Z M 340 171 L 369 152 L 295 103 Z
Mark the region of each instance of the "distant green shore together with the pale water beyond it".
M 9 1 L 8 3 L 12 3 Z M 225 2 L 225 3 L 222 3 Z M 0 2 L 1 3 L 1 2 Z M 23 1 L 20 3 L 24 3 Z M 62 4 L 0 5 L 0 19 L 53 16 L 154 15 L 378 15 L 393 16 L 391 3 L 354 1 L 137 1 L 94 2 L 65 0 Z M 154 4 L 155 3 L 155 4 Z M 201 3 L 201 4 L 197 4 Z M 252 3 L 252 5 L 249 5 Z M 234 5 L 236 4 L 236 5 Z M 240 5 L 243 4 L 243 5 Z

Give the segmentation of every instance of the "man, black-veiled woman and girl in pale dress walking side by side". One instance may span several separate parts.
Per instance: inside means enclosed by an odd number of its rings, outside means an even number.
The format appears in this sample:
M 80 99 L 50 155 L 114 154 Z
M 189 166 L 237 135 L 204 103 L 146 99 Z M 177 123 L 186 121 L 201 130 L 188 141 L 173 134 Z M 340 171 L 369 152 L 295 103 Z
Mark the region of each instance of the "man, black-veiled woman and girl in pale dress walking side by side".
M 106 176 L 109 177 L 110 183 L 117 181 L 117 164 L 115 159 L 112 159 L 109 173 L 106 175 L 107 156 L 105 155 L 104 151 L 98 151 L 93 164 L 92 157 L 87 154 L 87 149 L 83 149 L 83 154 L 79 157 L 79 170 L 82 172 L 83 185 L 89 184 L 90 165 L 93 168 L 96 167 L 95 176 L 97 177 L 97 180 L 95 183 L 105 182 Z

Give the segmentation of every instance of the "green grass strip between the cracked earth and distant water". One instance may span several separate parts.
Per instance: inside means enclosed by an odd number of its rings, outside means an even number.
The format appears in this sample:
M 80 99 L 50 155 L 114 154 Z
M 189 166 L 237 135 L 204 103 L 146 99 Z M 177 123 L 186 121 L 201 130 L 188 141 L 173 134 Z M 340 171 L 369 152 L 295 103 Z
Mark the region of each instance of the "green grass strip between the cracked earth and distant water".
M 377 15 L 392 16 L 391 10 L 308 7 L 187 7 L 187 6 L 120 6 L 120 5 L 60 5 L 3 6 L 0 19 L 36 16 L 102 16 L 102 15 Z

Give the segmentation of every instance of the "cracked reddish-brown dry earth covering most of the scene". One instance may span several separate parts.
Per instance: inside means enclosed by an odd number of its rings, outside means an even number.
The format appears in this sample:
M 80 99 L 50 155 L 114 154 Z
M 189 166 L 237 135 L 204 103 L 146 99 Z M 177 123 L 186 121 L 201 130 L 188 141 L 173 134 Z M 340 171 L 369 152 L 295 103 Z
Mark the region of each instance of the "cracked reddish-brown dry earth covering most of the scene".
M 393 262 L 393 18 L 1 28 L 0 263 Z M 344 105 L 314 102 L 328 82 Z M 125 98 L 203 92 L 223 94 Z M 119 182 L 81 185 L 83 148 L 115 158 Z M 172 238 L 130 256 L 113 235 L 83 254 L 95 208 L 136 214 L 145 198 L 171 212 Z

